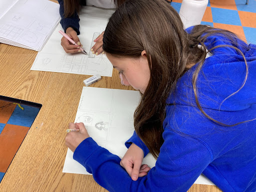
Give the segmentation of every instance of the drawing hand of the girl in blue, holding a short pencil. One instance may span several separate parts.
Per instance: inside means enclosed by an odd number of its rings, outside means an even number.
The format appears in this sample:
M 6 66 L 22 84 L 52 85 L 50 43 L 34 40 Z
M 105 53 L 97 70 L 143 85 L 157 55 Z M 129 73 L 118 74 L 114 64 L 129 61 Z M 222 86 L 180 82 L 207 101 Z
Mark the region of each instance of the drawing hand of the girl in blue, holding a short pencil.
M 68 128 L 77 129 L 79 128 L 79 132 L 68 132 L 65 137 L 65 144 L 71 151 L 74 151 L 76 147 L 85 139 L 89 137 L 89 134 L 82 122 L 72 123 L 69 122 Z

